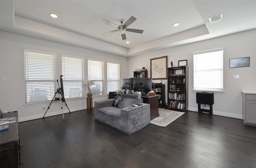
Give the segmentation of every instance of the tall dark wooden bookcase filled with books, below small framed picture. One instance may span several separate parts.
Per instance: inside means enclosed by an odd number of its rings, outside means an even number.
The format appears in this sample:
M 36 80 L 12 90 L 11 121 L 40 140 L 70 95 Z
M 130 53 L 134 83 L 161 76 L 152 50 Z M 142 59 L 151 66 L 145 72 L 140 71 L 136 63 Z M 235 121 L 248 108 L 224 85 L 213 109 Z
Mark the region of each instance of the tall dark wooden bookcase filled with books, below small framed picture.
M 169 110 L 185 112 L 188 110 L 188 67 L 178 66 L 168 69 L 168 105 Z

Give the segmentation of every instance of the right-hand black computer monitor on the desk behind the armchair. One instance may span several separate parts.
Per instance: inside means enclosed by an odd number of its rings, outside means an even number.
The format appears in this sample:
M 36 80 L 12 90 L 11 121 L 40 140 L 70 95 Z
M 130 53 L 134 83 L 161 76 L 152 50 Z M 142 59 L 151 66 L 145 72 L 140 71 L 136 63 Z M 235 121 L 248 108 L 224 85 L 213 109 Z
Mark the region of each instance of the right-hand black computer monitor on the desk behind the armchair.
M 152 78 L 133 78 L 134 91 L 144 91 L 148 93 L 152 90 Z

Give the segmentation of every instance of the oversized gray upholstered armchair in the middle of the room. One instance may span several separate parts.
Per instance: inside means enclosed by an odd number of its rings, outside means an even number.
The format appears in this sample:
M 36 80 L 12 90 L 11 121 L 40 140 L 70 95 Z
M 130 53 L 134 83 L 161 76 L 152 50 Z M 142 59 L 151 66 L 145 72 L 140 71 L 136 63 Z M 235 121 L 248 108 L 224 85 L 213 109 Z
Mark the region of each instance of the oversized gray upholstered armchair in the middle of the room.
M 124 94 L 118 94 L 117 102 L 122 96 Z M 150 104 L 143 103 L 140 95 L 126 94 L 118 108 L 112 106 L 113 102 L 114 99 L 95 102 L 95 119 L 126 134 L 132 134 L 149 124 Z M 142 106 L 133 107 L 132 104 L 142 104 Z

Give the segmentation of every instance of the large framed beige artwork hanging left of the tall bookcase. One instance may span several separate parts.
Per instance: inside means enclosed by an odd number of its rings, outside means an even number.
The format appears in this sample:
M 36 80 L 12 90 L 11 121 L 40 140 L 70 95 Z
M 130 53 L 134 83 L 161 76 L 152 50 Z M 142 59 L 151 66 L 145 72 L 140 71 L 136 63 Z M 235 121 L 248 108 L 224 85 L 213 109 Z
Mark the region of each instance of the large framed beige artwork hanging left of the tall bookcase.
M 167 79 L 168 56 L 150 59 L 150 76 L 154 79 Z

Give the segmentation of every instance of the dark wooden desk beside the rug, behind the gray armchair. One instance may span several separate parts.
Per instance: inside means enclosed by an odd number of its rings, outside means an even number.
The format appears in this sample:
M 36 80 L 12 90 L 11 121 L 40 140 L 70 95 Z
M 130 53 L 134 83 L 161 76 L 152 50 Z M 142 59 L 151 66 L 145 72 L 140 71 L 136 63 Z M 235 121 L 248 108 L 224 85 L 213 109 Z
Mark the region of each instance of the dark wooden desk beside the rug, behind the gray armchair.
M 153 120 L 154 118 L 159 116 L 158 113 L 158 98 L 159 95 L 155 96 L 142 96 L 143 103 L 150 104 L 150 120 Z

